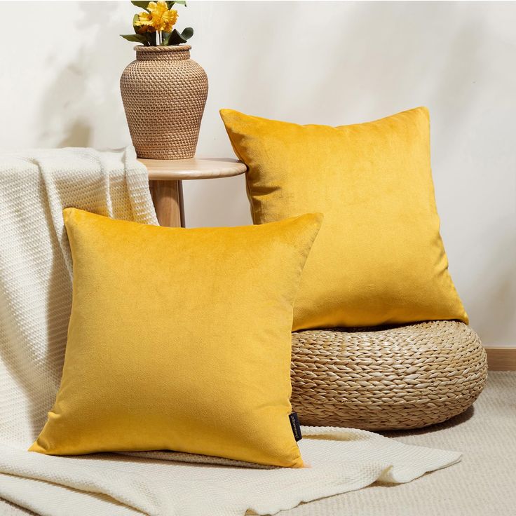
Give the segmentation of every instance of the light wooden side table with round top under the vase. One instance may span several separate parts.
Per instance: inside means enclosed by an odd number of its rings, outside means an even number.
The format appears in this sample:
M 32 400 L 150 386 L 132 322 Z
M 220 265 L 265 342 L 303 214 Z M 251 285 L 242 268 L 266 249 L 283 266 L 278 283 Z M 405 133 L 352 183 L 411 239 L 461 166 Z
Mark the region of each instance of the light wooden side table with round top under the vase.
M 246 166 L 229 158 L 143 159 L 149 189 L 161 226 L 184 227 L 184 179 L 214 179 L 243 174 Z

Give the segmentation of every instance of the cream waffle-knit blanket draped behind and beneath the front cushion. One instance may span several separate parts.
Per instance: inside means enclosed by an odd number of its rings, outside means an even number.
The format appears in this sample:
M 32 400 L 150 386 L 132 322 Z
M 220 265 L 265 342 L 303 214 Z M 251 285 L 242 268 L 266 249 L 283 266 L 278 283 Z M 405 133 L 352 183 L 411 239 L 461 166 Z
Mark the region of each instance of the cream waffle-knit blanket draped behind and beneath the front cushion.
M 304 427 L 303 469 L 173 452 L 26 451 L 60 382 L 72 294 L 62 208 L 156 224 L 133 149 L 0 156 L 0 498 L 42 515 L 260 515 L 301 501 L 409 482 L 459 460 L 373 433 Z M 102 358 L 99 358 L 102 360 Z

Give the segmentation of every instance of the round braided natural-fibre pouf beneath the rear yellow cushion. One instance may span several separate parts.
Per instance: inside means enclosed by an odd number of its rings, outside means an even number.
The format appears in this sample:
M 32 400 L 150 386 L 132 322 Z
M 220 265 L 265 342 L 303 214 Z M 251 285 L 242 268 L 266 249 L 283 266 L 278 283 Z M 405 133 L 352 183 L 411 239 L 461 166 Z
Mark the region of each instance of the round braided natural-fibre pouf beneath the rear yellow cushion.
M 292 410 L 305 425 L 440 423 L 466 410 L 486 379 L 484 348 L 462 322 L 292 334 Z

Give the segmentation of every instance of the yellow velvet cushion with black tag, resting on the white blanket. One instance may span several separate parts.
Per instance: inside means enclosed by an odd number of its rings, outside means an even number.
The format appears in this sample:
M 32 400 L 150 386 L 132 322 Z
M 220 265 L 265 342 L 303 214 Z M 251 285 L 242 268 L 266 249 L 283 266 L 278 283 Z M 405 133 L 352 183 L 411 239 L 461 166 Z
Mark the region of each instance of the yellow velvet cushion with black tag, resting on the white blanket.
M 292 304 L 321 219 L 182 229 L 65 209 L 72 314 L 30 450 L 302 467 L 288 417 Z

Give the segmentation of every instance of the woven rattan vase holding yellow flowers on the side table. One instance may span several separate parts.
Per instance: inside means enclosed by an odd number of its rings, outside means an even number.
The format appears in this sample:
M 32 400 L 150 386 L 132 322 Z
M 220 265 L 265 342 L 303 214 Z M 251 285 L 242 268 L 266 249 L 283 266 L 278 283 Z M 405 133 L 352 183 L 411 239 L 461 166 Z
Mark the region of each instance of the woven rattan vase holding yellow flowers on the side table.
M 189 45 L 136 46 L 120 79 L 123 107 L 140 158 L 191 158 L 208 95 L 208 77 Z

